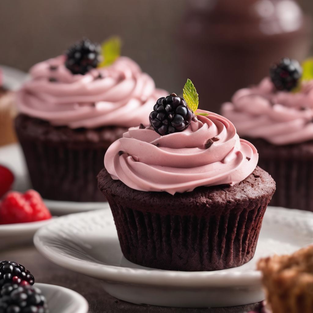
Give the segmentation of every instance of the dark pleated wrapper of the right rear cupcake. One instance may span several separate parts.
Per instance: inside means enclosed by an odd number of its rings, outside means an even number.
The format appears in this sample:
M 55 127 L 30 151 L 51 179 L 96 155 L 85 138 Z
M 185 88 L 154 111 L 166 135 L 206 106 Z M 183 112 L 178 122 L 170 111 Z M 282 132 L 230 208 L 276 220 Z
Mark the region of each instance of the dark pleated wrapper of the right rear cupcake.
M 269 205 L 313 212 L 313 161 L 260 156 L 258 165 L 276 182 L 277 189 Z

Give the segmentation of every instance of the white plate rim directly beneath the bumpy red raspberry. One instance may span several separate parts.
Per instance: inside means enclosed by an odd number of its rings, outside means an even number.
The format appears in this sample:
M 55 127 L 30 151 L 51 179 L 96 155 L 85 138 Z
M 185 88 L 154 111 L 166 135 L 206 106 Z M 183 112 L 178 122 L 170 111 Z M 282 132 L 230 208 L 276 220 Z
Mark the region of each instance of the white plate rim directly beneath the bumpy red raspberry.
M 39 222 L 0 225 L 0 251 L 13 246 L 32 244 L 36 231 L 51 222 L 52 219 L 48 219 Z

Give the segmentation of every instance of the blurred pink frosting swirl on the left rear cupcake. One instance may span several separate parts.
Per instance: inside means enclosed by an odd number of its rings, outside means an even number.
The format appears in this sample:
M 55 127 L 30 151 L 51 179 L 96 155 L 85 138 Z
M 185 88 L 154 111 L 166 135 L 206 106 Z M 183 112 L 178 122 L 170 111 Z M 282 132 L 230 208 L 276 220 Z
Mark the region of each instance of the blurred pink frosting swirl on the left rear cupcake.
M 72 74 L 64 58 L 30 69 L 32 79 L 18 92 L 20 112 L 70 128 L 131 127 L 148 123 L 156 100 L 167 95 L 129 58 L 120 57 L 85 75 Z

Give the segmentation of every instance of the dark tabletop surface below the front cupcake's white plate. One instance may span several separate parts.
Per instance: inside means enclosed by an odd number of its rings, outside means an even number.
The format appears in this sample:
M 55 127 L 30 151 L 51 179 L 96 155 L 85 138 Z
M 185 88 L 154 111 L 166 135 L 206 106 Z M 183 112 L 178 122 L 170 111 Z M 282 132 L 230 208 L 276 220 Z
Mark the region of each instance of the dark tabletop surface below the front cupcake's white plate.
M 190 309 L 135 305 L 117 300 L 107 294 L 102 289 L 99 280 L 63 269 L 46 260 L 34 247 L 4 250 L 0 254 L 1 260 L 23 264 L 35 276 L 38 283 L 59 285 L 77 291 L 87 299 L 90 307 L 89 313 L 245 313 L 256 307 L 256 304 L 251 304 L 228 308 Z

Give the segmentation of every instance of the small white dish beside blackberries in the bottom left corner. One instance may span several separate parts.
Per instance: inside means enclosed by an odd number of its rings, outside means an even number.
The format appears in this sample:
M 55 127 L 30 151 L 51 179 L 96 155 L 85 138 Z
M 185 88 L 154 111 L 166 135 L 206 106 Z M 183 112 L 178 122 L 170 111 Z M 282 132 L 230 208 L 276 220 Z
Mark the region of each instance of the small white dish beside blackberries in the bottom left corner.
M 46 297 L 50 313 L 88 313 L 87 300 L 76 291 L 48 284 L 34 286 Z

